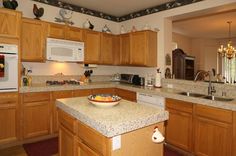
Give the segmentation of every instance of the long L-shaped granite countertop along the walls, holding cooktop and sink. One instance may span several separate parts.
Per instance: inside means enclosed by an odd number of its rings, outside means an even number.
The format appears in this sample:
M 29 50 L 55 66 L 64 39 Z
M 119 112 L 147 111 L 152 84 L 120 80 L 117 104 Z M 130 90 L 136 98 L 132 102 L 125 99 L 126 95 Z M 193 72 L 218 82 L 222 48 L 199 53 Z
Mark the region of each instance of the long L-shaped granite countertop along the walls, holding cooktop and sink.
M 94 82 L 84 85 L 63 85 L 63 86 L 46 86 L 37 85 L 32 87 L 21 87 L 20 93 L 27 92 L 45 92 L 45 91 L 60 91 L 60 90 L 76 90 L 76 89 L 94 89 L 94 88 L 120 88 L 134 92 L 147 93 L 152 95 L 158 95 L 165 98 L 172 98 L 176 100 L 183 100 L 194 104 L 202 104 L 206 106 L 212 106 L 216 108 L 222 108 L 227 110 L 236 111 L 236 100 L 230 102 L 212 101 L 197 97 L 188 97 L 178 94 L 180 90 L 170 88 L 150 88 L 144 86 L 134 86 L 130 84 L 121 84 L 119 82 Z M 235 98 L 236 99 L 236 98 Z

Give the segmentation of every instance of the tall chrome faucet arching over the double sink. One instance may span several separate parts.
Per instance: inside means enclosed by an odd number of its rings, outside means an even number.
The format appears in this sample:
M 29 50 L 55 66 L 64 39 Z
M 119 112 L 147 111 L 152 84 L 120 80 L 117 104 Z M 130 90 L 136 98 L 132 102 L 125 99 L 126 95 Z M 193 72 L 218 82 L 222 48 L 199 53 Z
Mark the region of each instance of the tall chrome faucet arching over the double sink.
M 215 87 L 212 85 L 212 73 L 210 71 L 199 71 L 195 78 L 194 81 L 196 82 L 199 78 L 199 75 L 203 74 L 203 77 L 209 76 L 209 83 L 208 83 L 208 95 L 213 96 L 213 93 L 216 92 Z

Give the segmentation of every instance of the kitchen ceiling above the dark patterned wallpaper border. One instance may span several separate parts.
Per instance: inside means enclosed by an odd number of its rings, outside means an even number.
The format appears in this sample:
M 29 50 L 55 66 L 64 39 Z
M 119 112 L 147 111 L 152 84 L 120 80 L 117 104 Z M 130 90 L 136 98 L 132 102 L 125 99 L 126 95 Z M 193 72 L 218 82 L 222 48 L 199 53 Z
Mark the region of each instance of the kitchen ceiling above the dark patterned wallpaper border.
M 103 12 L 116 17 L 158 6 L 175 0 L 61 0 L 91 10 Z

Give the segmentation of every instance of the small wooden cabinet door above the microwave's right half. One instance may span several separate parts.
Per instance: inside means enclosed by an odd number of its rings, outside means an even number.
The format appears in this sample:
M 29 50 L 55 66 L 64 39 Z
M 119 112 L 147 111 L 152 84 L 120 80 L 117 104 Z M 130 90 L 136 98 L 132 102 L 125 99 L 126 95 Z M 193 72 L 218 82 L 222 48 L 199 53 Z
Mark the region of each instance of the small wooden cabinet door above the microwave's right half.
M 67 26 L 65 39 L 73 41 L 83 41 L 83 30 L 80 28 Z

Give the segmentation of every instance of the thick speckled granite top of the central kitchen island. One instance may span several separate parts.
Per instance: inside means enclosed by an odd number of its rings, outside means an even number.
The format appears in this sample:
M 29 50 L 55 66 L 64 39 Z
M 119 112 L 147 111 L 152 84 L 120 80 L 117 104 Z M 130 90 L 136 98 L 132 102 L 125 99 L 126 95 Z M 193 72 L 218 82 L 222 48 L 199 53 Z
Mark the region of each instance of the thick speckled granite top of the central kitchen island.
M 106 137 L 121 135 L 168 119 L 168 112 L 122 99 L 111 108 L 89 103 L 87 97 L 58 99 L 57 107 Z

